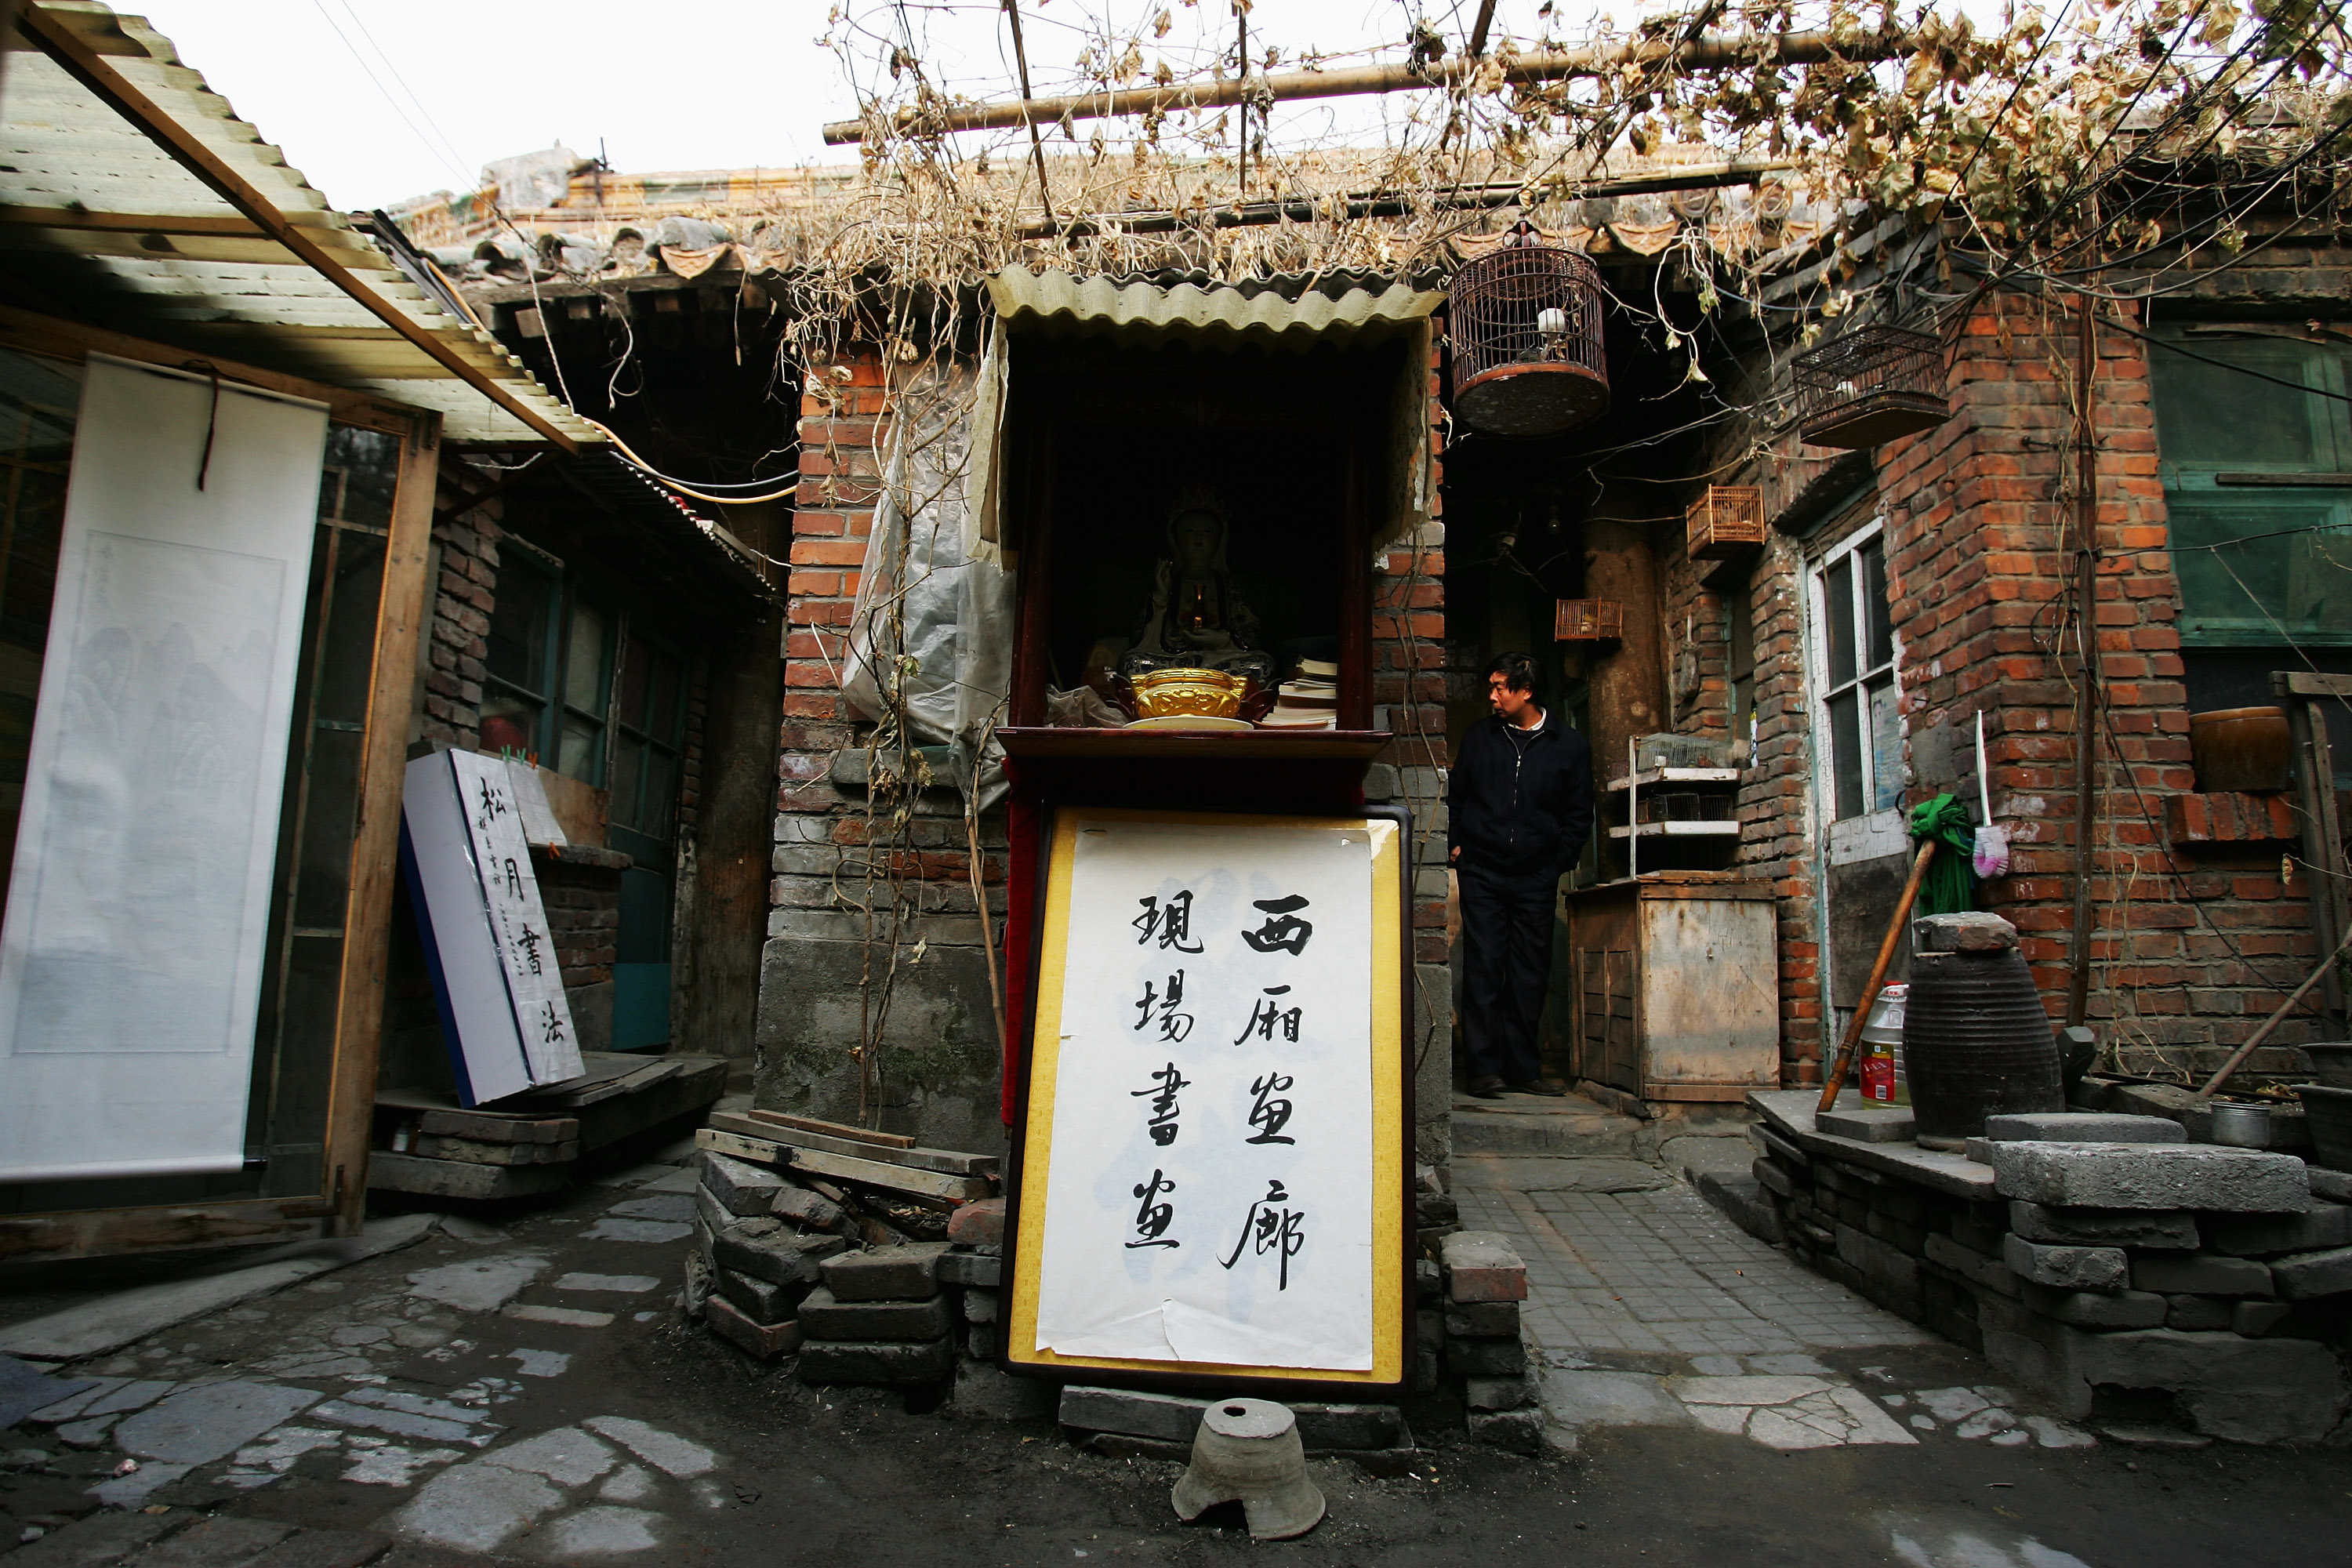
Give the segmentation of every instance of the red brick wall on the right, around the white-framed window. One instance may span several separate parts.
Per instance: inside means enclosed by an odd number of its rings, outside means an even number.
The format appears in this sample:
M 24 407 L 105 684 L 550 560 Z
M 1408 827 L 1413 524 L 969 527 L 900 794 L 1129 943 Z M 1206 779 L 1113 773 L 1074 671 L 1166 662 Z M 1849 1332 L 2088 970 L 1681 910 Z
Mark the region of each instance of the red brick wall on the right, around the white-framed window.
M 2065 1009 L 2074 900 L 2074 658 L 2053 649 L 2072 576 L 2077 322 L 2065 306 L 1994 296 L 1950 360 L 1952 418 L 1875 454 L 1886 520 L 1889 592 L 1907 804 L 1952 790 L 1976 799 L 1973 724 L 1985 715 L 1994 820 L 2016 846 L 1983 905 L 2018 924 L 2053 1016 Z M 2173 1063 L 2241 1041 L 2310 964 L 2307 884 L 2279 879 L 2281 844 L 2176 849 L 2166 811 L 2194 792 L 2187 691 L 2176 632 L 2164 487 L 2138 339 L 2103 329 L 2093 400 L 2098 440 L 2098 649 L 2107 722 L 2098 738 L 2091 1023 L 2103 1041 Z M 1773 515 L 1809 477 L 1759 458 L 1738 482 L 1766 487 Z M 1849 522 L 1851 522 L 1849 520 Z M 1842 522 L 1823 536 L 1844 531 Z M 1799 639 L 1802 555 L 1776 543 L 1750 581 L 1762 733 L 1740 792 L 1740 865 L 1780 903 L 1783 1081 L 1820 1074 L 1820 936 L 1809 802 L 1813 748 Z M 1689 562 L 1670 559 L 1670 635 L 1682 616 L 1722 618 Z M 1705 651 L 1705 642 L 1700 644 Z M 2067 642 L 2072 646 L 2072 639 Z M 1705 665 L 1703 665 L 1705 668 Z M 1705 705 L 1724 698 L 1710 679 Z M 1950 773 L 1922 738 L 1947 726 Z M 1682 729 L 1705 729 L 1693 715 Z M 2227 936 L 2223 936 L 2227 933 Z M 2234 952 L 2232 952 L 2234 943 Z M 2281 985 L 2284 980 L 2284 985 Z M 2300 1039 L 2288 1025 L 2281 1041 Z M 2143 1063 L 2150 1058 L 2143 1056 Z

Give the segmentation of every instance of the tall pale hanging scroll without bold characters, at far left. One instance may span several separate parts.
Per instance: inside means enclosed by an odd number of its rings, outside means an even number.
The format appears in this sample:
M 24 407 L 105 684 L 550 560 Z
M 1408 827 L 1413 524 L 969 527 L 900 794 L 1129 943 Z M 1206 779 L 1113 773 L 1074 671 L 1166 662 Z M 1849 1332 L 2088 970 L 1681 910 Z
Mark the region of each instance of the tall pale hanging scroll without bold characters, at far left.
M 89 355 L 0 929 L 0 1182 L 245 1161 L 327 409 Z

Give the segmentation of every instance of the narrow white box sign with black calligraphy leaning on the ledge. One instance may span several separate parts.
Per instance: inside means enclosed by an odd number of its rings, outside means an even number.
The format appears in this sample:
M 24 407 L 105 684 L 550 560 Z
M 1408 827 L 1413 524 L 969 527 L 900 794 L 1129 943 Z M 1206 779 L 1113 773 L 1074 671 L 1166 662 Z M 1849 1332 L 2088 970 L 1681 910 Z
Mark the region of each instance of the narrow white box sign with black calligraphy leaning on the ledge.
M 475 752 L 419 757 L 400 827 L 459 1100 L 482 1105 L 581 1077 L 579 1030 L 506 764 Z

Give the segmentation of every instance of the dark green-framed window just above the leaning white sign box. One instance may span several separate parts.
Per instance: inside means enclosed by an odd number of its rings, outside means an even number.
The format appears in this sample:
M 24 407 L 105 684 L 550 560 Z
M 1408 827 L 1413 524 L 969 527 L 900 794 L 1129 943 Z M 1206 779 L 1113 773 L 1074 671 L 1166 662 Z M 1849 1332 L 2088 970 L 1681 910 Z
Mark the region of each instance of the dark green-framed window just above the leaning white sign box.
M 482 661 L 482 750 L 604 783 L 619 616 L 553 559 L 506 548 Z

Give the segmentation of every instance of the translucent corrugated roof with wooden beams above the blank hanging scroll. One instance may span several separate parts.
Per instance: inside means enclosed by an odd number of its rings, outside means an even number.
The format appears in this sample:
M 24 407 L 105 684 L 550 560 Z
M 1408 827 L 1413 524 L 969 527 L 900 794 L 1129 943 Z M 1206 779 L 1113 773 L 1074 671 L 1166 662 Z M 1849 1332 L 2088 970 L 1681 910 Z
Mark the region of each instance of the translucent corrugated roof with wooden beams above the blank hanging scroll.
M 447 315 L 327 207 L 139 16 L 40 5 L 383 301 L 576 442 L 597 442 L 480 327 Z M 19 301 L 198 355 L 437 409 L 463 442 L 546 440 L 287 249 L 24 38 L 0 78 L 0 273 Z

